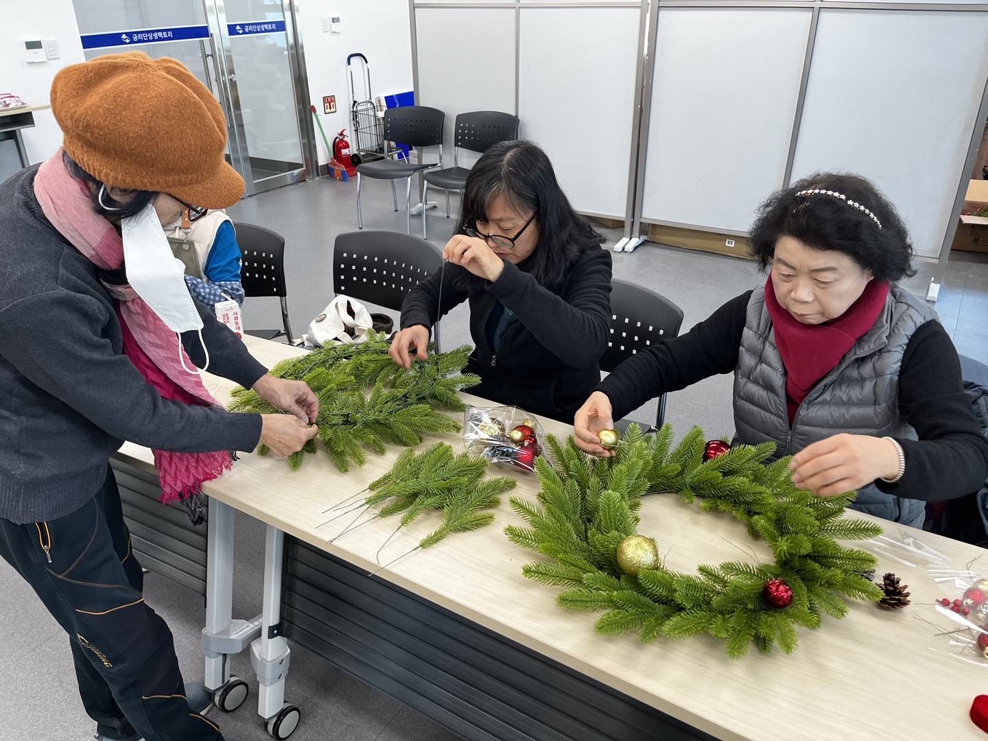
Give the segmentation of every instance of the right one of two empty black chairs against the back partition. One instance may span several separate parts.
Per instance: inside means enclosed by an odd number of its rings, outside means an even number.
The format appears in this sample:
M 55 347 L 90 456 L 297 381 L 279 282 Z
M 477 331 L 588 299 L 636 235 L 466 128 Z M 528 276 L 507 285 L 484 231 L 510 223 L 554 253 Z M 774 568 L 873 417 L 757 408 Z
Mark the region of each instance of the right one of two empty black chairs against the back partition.
M 406 179 L 405 184 L 405 230 L 412 233 L 412 176 L 428 170 L 431 167 L 443 166 L 443 123 L 446 114 L 439 109 L 426 106 L 402 106 L 389 108 L 384 112 L 383 137 L 384 147 L 388 141 L 408 146 L 426 147 L 439 146 L 439 163 L 416 164 L 409 160 L 396 161 L 388 159 L 364 162 L 357 166 L 357 228 L 364 228 L 364 218 L 361 214 L 361 178 L 375 178 L 391 181 L 391 198 L 394 209 L 398 210 L 398 195 L 394 190 L 394 181 Z

